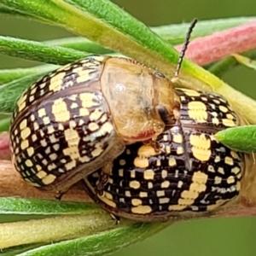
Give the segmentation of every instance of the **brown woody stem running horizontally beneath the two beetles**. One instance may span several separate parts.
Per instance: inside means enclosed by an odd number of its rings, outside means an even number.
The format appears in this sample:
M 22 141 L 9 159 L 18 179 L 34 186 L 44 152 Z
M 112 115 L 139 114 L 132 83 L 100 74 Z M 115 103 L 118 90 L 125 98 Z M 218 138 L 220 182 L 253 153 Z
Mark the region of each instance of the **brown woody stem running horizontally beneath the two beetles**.
M 212 217 L 249 217 L 256 216 L 256 165 L 251 155 L 246 155 L 247 168 L 242 178 L 241 197 L 236 204 L 224 207 Z M 54 192 L 43 192 L 24 182 L 19 173 L 15 172 L 10 161 L 0 160 L 0 197 L 22 197 L 38 199 L 55 199 Z M 80 183 L 74 185 L 61 199 L 63 201 L 90 202 Z

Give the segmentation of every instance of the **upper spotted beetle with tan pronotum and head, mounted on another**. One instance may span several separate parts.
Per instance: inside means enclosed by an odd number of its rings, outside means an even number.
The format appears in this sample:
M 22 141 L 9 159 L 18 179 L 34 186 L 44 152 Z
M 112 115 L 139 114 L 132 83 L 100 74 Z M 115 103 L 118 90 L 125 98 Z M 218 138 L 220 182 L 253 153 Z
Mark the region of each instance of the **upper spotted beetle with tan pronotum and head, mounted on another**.
M 17 102 L 10 137 L 15 169 L 41 189 L 65 191 L 172 116 L 170 81 L 125 58 L 90 56 L 32 84 Z

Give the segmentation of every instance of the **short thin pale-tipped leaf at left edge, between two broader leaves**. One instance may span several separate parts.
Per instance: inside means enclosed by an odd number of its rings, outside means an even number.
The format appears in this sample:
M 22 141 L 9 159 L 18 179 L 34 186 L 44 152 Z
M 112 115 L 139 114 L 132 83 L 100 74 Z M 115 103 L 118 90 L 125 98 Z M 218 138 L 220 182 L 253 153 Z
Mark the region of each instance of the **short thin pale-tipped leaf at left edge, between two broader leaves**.
M 57 67 L 58 66 L 55 65 L 41 65 L 26 68 L 0 69 L 0 85 L 7 84 L 16 79 L 21 79 L 29 75 L 35 75 L 37 73 L 49 73 Z

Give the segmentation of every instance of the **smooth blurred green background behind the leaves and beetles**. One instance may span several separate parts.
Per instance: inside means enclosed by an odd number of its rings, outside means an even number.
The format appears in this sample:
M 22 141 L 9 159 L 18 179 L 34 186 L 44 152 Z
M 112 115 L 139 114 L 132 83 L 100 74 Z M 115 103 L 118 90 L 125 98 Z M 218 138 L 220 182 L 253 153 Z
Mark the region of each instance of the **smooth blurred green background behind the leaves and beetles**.
M 114 0 L 148 26 L 256 16 L 255 0 Z M 33 40 L 71 36 L 69 32 L 27 20 L 0 16 L 0 35 Z M 0 55 L 0 68 L 30 67 L 34 62 Z M 230 85 L 256 99 L 256 73 L 238 67 L 223 77 Z M 0 222 L 3 216 L 0 216 Z M 186 221 L 169 226 L 147 240 L 125 247 L 112 256 L 255 256 L 256 218 L 224 218 Z M 0 253 L 1 254 L 1 253 Z

